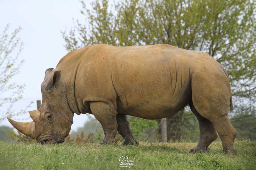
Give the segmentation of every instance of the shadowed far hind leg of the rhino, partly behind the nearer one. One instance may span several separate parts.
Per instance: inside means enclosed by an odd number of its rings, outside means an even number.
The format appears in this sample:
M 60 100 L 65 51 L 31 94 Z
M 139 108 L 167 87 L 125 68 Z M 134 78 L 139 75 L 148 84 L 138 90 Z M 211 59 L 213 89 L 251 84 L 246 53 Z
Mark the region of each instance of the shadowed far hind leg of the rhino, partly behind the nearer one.
M 189 153 L 195 153 L 195 152 L 203 152 L 207 151 L 208 146 L 218 138 L 218 134 L 216 132 L 216 129 L 214 128 L 212 122 L 205 119 L 203 116 L 201 116 L 193 106 L 193 103 L 189 103 L 191 111 L 196 115 L 196 118 L 199 122 L 199 130 L 200 130 L 200 138 L 199 142 L 196 146 L 196 148 L 190 149 Z

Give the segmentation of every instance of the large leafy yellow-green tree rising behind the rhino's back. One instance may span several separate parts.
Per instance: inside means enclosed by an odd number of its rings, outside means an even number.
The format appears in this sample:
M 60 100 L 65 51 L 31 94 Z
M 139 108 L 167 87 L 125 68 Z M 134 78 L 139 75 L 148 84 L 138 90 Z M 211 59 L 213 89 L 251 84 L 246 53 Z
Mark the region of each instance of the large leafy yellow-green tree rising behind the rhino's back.
M 109 8 L 108 0 L 95 0 L 88 10 L 82 1 L 85 23 L 77 20 L 62 35 L 67 50 L 95 43 L 166 43 L 204 51 L 227 70 L 234 101 L 244 98 L 246 105 L 248 100 L 256 102 L 255 4 L 255 0 L 122 0 Z M 168 118 L 169 129 L 180 132 L 172 124 L 182 124 L 182 115 Z

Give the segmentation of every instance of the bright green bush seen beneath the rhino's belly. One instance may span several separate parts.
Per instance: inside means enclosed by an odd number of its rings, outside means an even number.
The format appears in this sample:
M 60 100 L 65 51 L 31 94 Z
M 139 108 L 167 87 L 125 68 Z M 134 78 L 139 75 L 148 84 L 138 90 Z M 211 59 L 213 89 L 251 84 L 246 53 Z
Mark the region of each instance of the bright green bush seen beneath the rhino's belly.
M 138 141 L 147 140 L 148 137 L 153 135 L 153 132 L 158 129 L 157 122 L 155 120 L 147 120 L 134 116 L 128 116 L 127 120 L 130 122 L 132 135 Z

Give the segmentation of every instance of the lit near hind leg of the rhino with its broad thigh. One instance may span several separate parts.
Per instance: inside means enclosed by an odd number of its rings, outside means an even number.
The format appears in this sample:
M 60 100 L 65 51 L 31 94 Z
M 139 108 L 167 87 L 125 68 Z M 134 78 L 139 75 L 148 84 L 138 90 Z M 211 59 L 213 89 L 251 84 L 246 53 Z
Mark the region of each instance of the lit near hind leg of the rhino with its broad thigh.
M 214 125 L 220 136 L 223 152 L 236 154 L 233 143 L 237 132 L 228 118 L 232 102 L 228 78 L 221 74 L 193 73 L 191 90 L 193 106 Z

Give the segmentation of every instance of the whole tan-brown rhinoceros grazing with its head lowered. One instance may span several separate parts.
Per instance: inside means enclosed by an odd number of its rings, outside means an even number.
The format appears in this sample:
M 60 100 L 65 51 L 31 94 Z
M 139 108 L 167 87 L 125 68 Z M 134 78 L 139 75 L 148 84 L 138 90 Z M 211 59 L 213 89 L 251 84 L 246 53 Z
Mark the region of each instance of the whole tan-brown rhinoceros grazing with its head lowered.
M 33 122 L 11 124 L 41 144 L 62 143 L 77 115 L 92 114 L 112 144 L 138 145 L 126 115 L 161 119 L 189 104 L 199 122 L 200 139 L 189 152 L 207 151 L 220 136 L 224 153 L 236 153 L 236 129 L 227 72 L 212 56 L 168 44 L 117 47 L 95 44 L 69 52 L 45 71 L 42 106 L 29 112 Z

